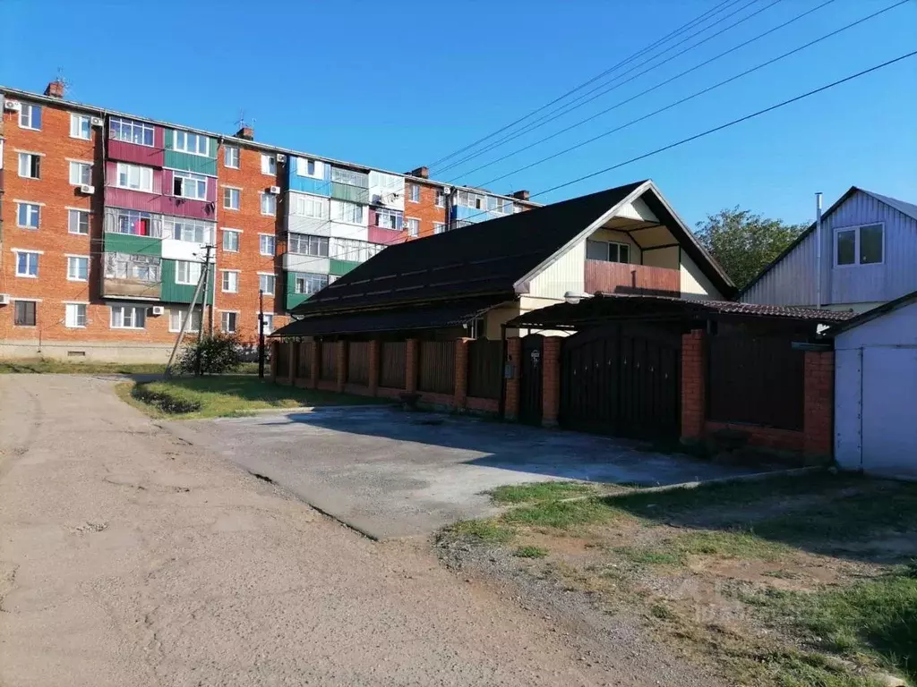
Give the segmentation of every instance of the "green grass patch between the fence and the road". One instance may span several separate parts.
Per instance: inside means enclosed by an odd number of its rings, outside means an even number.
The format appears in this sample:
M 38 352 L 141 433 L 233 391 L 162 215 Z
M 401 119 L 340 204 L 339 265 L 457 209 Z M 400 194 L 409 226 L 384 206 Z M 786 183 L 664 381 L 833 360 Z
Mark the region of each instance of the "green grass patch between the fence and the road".
M 125 398 L 121 390 L 121 398 Z M 148 396 L 168 399 L 178 407 L 195 407 L 192 412 L 171 414 L 173 418 L 239 417 L 252 410 L 299 408 L 303 406 L 348 406 L 385 403 L 385 399 L 338 394 L 334 391 L 282 387 L 257 376 L 179 377 L 135 385 L 132 403 L 150 414 L 161 416 L 161 407 L 151 405 Z M 138 403 L 140 404 L 138 406 Z

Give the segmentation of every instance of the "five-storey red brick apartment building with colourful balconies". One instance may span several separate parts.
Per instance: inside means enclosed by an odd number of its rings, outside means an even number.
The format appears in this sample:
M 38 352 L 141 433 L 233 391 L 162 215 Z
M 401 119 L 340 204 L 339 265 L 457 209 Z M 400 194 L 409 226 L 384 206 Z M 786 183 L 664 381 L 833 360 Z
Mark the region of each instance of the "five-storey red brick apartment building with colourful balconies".
M 270 333 L 386 245 L 534 205 L 265 145 L 247 126 L 73 103 L 61 82 L 0 87 L 0 102 L 4 358 L 164 361 L 198 291 L 186 333 L 254 344 L 260 313 Z

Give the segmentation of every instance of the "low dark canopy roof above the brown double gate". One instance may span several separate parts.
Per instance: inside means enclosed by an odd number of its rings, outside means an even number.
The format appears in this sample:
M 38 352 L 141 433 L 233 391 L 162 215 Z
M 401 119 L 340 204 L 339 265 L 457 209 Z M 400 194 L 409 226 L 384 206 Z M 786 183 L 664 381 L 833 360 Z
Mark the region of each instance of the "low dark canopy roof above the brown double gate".
M 851 311 L 826 311 L 782 305 L 757 305 L 732 300 L 693 300 L 669 296 L 598 293 L 579 303 L 558 303 L 526 312 L 506 323 L 524 329 L 576 329 L 612 320 L 691 320 L 713 315 L 777 318 L 797 322 L 844 322 Z

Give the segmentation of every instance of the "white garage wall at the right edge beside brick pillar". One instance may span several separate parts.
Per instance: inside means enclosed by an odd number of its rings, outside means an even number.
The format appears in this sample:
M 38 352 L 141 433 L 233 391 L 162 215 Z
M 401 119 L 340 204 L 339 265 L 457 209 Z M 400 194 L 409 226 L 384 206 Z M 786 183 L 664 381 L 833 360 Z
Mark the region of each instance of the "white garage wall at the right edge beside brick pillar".
M 917 479 L 917 291 L 834 333 L 837 463 Z

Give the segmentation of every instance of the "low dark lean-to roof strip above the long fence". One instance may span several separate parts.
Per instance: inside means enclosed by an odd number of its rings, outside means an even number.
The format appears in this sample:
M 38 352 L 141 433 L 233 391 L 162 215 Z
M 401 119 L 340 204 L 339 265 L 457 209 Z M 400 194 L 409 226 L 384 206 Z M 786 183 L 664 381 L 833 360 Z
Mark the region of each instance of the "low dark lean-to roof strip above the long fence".
M 331 334 L 397 332 L 465 324 L 494 306 L 515 299 L 513 293 L 453 300 L 426 307 L 386 308 L 295 320 L 273 337 L 328 336 Z

